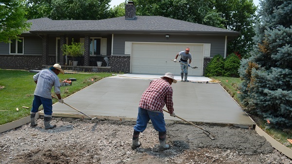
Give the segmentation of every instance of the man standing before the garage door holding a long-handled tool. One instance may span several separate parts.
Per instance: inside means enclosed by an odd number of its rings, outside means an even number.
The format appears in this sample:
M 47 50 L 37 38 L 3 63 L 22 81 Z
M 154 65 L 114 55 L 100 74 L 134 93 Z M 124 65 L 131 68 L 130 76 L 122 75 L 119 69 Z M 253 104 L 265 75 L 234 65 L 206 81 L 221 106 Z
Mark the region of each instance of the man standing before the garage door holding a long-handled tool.
M 187 80 L 187 69 L 190 67 L 192 62 L 192 55 L 189 53 L 190 49 L 186 48 L 185 51 L 181 51 L 179 54 L 175 56 L 174 62 L 177 62 L 177 58 L 181 56 L 180 63 L 181 63 L 181 77 L 183 81 L 183 73 L 184 73 L 184 81 L 188 82 Z M 189 60 L 189 62 L 187 62 Z M 183 64 L 182 64 L 183 63 Z M 185 64 L 185 65 L 184 65 Z

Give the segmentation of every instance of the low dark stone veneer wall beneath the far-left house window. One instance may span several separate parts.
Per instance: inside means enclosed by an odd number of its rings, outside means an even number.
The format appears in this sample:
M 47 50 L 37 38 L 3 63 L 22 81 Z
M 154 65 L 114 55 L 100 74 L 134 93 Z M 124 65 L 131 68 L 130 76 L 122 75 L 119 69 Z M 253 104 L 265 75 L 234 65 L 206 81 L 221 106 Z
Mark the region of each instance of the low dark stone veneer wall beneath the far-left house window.
M 0 69 L 41 69 L 41 55 L 0 55 Z

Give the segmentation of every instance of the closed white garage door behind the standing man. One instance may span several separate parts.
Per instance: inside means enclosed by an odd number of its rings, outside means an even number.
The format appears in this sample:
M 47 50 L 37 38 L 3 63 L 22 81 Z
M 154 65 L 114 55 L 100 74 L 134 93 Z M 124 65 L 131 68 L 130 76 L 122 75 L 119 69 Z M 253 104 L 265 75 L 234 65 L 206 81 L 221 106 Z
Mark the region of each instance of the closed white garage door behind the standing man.
M 203 44 L 179 44 L 179 43 L 138 43 L 131 46 L 131 73 L 164 74 L 167 72 L 175 75 L 181 74 L 179 63 L 170 59 L 190 48 L 192 55 L 192 67 L 188 68 L 188 75 L 201 76 L 203 71 Z M 180 57 L 178 57 L 178 60 Z

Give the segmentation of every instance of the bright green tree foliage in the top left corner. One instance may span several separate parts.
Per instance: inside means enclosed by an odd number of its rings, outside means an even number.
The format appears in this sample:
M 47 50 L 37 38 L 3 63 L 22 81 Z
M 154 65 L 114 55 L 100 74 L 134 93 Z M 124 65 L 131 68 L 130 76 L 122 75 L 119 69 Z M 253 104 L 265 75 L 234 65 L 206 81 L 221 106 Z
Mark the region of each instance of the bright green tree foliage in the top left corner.
M 2 0 L 0 2 L 0 42 L 17 39 L 29 30 L 30 23 L 24 18 L 24 0 Z

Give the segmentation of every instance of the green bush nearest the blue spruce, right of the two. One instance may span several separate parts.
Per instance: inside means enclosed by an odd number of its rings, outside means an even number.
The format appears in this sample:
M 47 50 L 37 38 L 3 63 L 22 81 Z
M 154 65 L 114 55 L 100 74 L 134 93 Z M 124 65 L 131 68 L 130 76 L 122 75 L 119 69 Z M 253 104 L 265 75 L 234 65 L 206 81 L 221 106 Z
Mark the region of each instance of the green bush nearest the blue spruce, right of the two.
M 224 62 L 224 76 L 239 77 L 240 59 L 234 53 L 228 55 Z

